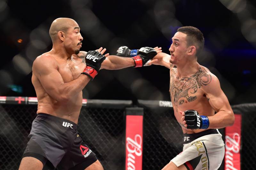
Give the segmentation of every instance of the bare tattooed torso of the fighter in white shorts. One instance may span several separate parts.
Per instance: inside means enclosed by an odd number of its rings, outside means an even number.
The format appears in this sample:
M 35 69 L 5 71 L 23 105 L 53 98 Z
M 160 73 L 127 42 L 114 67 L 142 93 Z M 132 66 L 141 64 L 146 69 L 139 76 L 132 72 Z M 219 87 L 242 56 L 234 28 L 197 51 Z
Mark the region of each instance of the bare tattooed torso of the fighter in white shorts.
M 181 125 L 183 133 L 198 133 L 204 129 L 187 129 L 182 125 L 180 111 L 196 110 L 200 115 L 212 116 L 214 110 L 204 92 L 204 86 L 211 83 L 212 73 L 205 67 L 189 77 L 179 78 L 177 68 L 170 67 L 170 95 L 174 115 Z

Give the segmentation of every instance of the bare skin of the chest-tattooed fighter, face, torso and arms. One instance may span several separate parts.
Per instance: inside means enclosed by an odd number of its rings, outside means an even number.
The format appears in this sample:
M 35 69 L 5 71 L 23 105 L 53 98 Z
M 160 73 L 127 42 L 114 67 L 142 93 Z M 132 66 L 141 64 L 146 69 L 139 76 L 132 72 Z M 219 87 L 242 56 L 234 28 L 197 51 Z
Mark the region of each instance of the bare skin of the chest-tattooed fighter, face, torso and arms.
M 208 129 L 220 129 L 234 123 L 234 113 L 220 88 L 218 78 L 197 63 L 196 47 L 187 47 L 186 34 L 177 32 L 172 38 L 170 54 L 158 53 L 150 64 L 170 69 L 170 96 L 174 115 L 183 133 L 198 133 L 205 129 L 187 129 L 186 110 L 196 110 L 208 116 Z M 216 114 L 215 114 L 216 112 Z

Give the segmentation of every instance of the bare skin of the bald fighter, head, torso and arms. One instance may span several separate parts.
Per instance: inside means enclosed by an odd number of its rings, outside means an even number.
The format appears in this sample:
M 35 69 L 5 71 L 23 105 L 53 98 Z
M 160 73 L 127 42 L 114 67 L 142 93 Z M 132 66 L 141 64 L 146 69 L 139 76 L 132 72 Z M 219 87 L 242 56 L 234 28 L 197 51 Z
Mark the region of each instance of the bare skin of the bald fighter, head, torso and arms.
M 82 107 L 82 89 L 91 80 L 82 74 L 87 52 L 79 51 L 83 37 L 75 20 L 58 18 L 50 28 L 52 50 L 36 58 L 32 84 L 38 100 L 37 114 L 46 113 L 77 123 Z M 103 54 L 106 49 L 99 48 Z M 107 57 L 109 54 L 106 54 Z M 134 66 L 132 58 L 108 56 L 101 69 L 117 70 Z

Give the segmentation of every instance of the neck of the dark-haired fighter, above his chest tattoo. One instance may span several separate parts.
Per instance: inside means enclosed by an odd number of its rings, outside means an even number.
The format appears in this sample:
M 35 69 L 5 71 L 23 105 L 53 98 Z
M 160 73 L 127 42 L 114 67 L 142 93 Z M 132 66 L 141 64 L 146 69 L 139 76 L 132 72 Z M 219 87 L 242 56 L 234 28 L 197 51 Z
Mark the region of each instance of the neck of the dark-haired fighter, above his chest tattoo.
M 177 65 L 177 74 L 179 78 L 189 77 L 195 74 L 200 68 L 199 63 L 187 62 L 184 65 Z

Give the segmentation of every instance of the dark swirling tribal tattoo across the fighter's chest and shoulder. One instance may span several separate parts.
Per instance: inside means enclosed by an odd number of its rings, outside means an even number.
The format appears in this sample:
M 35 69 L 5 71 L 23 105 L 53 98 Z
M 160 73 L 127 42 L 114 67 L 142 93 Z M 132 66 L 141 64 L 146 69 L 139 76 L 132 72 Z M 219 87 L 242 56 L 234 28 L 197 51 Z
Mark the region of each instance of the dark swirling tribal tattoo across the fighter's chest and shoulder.
M 188 102 L 196 100 L 197 90 L 203 85 L 208 85 L 212 77 L 204 69 L 199 68 L 194 75 L 179 79 L 177 69 L 172 68 L 170 79 L 171 100 L 178 112 L 178 105 L 184 104 L 185 100 Z

